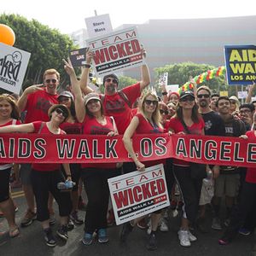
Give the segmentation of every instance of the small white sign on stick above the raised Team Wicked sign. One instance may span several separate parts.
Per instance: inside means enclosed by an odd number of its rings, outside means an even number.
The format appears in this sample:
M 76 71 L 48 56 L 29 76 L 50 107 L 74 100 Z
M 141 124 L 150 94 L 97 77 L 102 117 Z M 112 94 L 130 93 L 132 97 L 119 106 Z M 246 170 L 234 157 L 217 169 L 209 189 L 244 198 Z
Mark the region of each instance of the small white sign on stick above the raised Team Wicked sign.
M 85 19 L 89 38 L 95 38 L 113 32 L 109 15 L 97 15 Z

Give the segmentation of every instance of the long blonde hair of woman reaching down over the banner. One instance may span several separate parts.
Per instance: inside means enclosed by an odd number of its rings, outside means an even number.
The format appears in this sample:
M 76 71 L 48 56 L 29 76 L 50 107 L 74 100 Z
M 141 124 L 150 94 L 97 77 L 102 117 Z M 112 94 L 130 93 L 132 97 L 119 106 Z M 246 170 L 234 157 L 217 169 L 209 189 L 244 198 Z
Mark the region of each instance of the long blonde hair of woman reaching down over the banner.
M 145 91 L 143 93 L 143 95 L 141 96 L 140 101 L 139 101 L 138 111 L 139 111 L 139 113 L 142 113 L 142 115 L 145 119 L 147 119 L 147 115 L 145 113 L 144 102 L 148 96 L 153 96 L 154 99 L 158 102 L 156 105 L 156 108 L 154 109 L 154 113 L 152 113 L 152 119 L 153 119 L 155 125 L 162 128 L 162 125 L 160 124 L 160 103 L 158 100 L 158 96 L 156 96 L 156 94 L 153 91 Z

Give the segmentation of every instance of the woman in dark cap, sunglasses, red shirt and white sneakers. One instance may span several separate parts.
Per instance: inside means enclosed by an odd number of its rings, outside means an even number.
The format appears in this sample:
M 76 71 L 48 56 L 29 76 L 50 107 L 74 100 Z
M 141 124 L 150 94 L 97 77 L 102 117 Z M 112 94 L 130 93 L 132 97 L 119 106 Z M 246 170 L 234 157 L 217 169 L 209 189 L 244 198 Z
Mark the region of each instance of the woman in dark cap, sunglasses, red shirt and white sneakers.
M 184 127 L 185 125 L 187 129 Z M 179 97 L 176 114 L 170 119 L 169 131 L 179 134 L 204 135 L 204 126 L 204 120 L 198 113 L 194 93 L 189 90 L 183 91 Z M 189 231 L 189 223 L 195 223 L 202 185 L 202 179 L 192 179 L 190 172 L 188 161 L 173 160 L 173 173 L 184 203 L 183 218 L 178 231 L 180 245 L 183 247 L 189 247 L 191 245 L 190 241 L 196 240 L 196 237 Z

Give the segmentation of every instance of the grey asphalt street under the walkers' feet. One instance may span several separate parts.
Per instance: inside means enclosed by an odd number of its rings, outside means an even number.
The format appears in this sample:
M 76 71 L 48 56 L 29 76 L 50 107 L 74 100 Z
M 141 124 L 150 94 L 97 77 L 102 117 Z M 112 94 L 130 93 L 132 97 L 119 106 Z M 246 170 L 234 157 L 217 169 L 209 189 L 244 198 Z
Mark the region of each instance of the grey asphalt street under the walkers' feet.
M 15 189 L 15 202 L 19 207 L 16 212 L 17 223 L 20 224 L 24 212 L 26 212 L 26 201 L 20 189 Z M 57 216 L 57 207 L 55 205 L 55 215 Z M 171 212 L 172 213 L 172 212 Z M 81 217 L 84 217 L 85 212 L 79 212 Z M 211 212 L 207 212 L 209 217 L 208 225 L 210 227 Z M 38 221 L 34 221 L 32 225 L 26 228 L 20 228 L 20 236 L 9 238 L 8 233 L 0 236 L 0 256 L 46 256 L 46 255 L 122 255 L 122 256 L 137 256 L 137 255 L 172 255 L 172 256 L 249 256 L 253 247 L 254 236 L 239 235 L 234 242 L 228 246 L 219 246 L 218 238 L 221 236 L 221 231 L 209 229 L 207 234 L 201 234 L 195 230 L 194 234 L 198 241 L 192 243 L 191 247 L 181 247 L 177 239 L 177 230 L 180 216 L 170 218 L 168 223 L 168 232 L 157 232 L 158 249 L 149 252 L 146 248 L 148 235 L 145 230 L 135 228 L 131 232 L 131 236 L 125 244 L 119 242 L 119 232 L 121 226 L 113 226 L 108 228 L 109 242 L 100 244 L 98 241 L 93 241 L 92 245 L 84 246 L 81 242 L 84 234 L 83 225 L 76 226 L 74 230 L 68 233 L 67 243 L 57 238 L 57 246 L 54 248 L 47 247 L 44 242 L 44 235 Z M 53 226 L 54 234 L 59 225 Z M 6 220 L 0 218 L 0 231 L 8 230 Z

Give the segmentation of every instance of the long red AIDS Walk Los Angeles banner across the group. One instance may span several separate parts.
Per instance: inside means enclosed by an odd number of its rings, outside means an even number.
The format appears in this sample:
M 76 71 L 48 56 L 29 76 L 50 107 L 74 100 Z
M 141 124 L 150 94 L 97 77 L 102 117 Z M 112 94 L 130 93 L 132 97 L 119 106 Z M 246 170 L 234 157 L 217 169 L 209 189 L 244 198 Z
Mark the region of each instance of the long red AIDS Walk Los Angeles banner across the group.
M 256 138 L 150 134 L 132 139 L 142 161 L 177 158 L 220 166 L 256 166 Z M 91 135 L 2 134 L 1 163 L 125 162 L 131 158 L 122 137 Z

